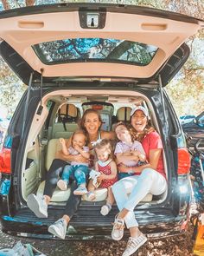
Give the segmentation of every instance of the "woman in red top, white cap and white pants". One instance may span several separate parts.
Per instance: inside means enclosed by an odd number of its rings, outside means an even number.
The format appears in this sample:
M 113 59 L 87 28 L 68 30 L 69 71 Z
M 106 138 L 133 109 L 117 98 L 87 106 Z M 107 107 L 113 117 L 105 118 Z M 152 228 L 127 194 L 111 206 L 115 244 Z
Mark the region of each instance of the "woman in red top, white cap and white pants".
M 131 233 L 123 256 L 135 253 L 147 241 L 146 236 L 138 229 L 134 208 L 147 194 L 163 194 L 167 189 L 163 167 L 163 143 L 160 135 L 150 128 L 146 108 L 137 106 L 132 109 L 131 125 L 136 132 L 137 139 L 142 142 L 148 163 L 139 167 L 120 166 L 123 173 L 134 172 L 139 175 L 124 178 L 112 186 L 112 192 L 120 210 L 114 221 L 112 239 L 122 239 L 124 222 Z

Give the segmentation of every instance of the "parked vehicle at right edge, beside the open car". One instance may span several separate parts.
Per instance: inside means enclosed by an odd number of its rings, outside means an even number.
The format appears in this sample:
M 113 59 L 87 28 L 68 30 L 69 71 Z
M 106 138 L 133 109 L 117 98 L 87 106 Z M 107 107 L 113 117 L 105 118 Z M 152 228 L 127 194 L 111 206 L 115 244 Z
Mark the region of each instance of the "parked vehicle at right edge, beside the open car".
M 184 133 L 188 135 L 188 146 L 194 147 L 196 141 L 204 138 L 204 111 L 196 116 L 193 121 L 182 125 Z M 201 141 L 200 148 L 204 147 L 204 141 Z

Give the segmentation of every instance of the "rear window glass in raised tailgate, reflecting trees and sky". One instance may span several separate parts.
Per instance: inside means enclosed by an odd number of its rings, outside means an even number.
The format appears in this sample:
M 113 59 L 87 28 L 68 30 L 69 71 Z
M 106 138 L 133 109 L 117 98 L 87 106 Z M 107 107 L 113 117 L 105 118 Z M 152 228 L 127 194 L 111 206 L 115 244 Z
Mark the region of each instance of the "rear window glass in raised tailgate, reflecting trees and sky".
M 103 38 L 74 38 L 33 45 L 45 64 L 67 62 L 115 62 L 148 65 L 157 48 L 145 43 Z

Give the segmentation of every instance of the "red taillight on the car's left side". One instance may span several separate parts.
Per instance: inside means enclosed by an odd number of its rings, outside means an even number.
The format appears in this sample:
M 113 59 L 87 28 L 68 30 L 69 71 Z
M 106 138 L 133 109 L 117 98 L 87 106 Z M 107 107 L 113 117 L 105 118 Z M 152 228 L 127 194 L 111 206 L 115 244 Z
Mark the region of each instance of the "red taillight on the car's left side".
M 0 173 L 10 174 L 10 148 L 3 148 L 0 152 Z

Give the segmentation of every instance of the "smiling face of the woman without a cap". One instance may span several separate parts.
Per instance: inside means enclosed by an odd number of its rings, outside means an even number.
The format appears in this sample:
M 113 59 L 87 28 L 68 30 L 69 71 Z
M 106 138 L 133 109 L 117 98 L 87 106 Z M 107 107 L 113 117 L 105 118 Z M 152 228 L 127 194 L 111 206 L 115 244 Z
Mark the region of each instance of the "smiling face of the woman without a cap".
M 101 121 L 99 121 L 99 115 L 94 112 L 86 114 L 84 121 L 84 127 L 89 135 L 98 134 L 99 127 L 101 126 Z

